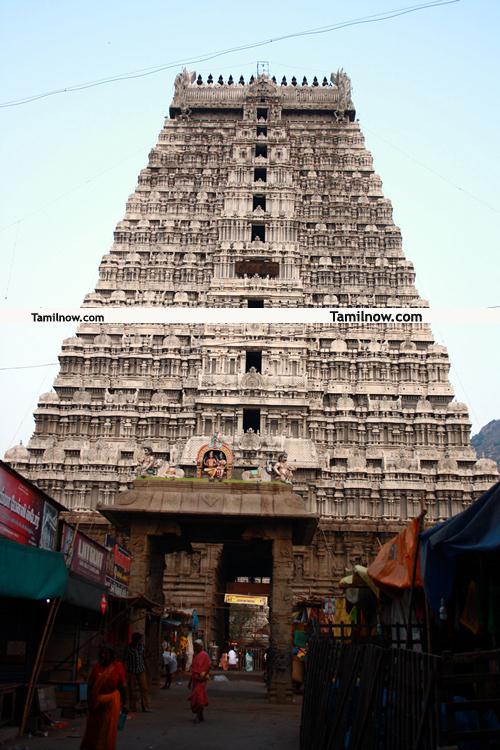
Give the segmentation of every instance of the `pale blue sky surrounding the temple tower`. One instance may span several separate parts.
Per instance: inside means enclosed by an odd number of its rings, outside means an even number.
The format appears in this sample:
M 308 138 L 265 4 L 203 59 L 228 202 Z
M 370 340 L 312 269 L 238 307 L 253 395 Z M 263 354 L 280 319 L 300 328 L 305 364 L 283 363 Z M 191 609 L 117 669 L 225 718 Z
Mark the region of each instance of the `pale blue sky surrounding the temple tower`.
M 0 0 L 0 104 L 172 65 L 0 107 L 0 314 L 76 308 L 94 289 L 184 61 L 408 7 Z M 204 78 L 248 78 L 268 61 L 279 80 L 344 68 L 420 294 L 437 308 L 478 309 L 500 306 L 499 31 L 500 3 L 460 0 L 187 67 Z M 499 328 L 433 327 L 473 433 L 500 419 Z M 50 390 L 62 339 L 73 334 L 72 325 L 33 323 L 28 312 L 25 323 L 0 325 L 0 455 L 29 440 L 38 396 Z

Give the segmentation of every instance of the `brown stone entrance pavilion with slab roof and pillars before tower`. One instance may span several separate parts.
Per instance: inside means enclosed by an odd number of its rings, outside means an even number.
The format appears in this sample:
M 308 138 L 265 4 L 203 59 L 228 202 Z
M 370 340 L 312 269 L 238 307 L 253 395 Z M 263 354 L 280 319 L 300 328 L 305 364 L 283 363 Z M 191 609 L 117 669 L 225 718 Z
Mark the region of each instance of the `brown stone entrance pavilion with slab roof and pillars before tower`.
M 253 570 L 270 571 L 268 696 L 277 703 L 291 701 L 293 547 L 311 543 L 318 518 L 289 485 L 138 479 L 115 505 L 100 511 L 130 537 L 131 592 L 153 601 L 163 602 L 165 555 L 190 552 L 194 543 L 225 545 L 229 570 L 245 565 L 246 555 Z M 252 560 L 252 549 L 254 558 L 256 549 L 266 553 Z

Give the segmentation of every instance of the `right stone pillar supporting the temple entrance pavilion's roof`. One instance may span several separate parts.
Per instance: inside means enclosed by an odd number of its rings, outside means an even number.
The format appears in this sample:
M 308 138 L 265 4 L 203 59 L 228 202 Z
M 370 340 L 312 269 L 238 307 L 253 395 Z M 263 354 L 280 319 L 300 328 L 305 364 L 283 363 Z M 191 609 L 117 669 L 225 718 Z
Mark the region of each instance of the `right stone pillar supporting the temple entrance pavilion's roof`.
M 283 524 L 273 540 L 270 680 L 268 683 L 268 697 L 272 703 L 290 703 L 292 700 L 292 579 L 292 529 L 290 524 Z

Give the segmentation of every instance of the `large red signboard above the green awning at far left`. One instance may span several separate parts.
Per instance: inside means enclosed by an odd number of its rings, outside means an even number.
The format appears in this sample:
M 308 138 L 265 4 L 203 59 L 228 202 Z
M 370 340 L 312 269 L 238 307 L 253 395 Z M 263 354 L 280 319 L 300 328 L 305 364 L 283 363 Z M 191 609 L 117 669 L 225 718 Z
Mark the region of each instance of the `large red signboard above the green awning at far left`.
M 0 536 L 38 547 L 43 509 L 36 489 L 0 466 Z

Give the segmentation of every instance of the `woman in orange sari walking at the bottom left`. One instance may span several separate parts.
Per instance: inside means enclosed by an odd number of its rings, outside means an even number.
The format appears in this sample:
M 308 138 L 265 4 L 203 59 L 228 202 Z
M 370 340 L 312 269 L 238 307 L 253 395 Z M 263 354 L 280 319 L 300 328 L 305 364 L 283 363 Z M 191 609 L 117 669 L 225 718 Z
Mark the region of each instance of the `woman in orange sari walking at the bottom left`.
M 115 750 L 120 710 L 125 704 L 125 670 L 111 646 L 101 646 L 90 673 L 89 715 L 81 750 Z

